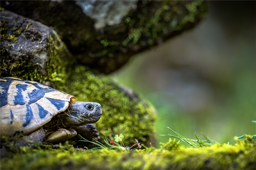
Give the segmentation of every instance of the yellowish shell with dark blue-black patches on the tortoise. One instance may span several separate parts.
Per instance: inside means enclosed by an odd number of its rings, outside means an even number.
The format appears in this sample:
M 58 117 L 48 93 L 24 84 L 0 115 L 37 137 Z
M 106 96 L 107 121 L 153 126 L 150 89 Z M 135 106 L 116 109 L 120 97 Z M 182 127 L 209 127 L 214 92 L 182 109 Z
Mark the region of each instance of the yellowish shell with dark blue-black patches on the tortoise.
M 28 135 L 65 111 L 75 97 L 38 82 L 0 79 L 0 134 Z

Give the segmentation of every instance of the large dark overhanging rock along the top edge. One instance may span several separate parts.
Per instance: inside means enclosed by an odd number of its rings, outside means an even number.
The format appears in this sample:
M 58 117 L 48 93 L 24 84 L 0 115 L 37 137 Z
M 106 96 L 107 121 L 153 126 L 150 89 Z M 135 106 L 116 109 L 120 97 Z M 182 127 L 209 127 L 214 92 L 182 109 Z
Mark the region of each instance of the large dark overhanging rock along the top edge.
M 80 63 L 106 74 L 120 68 L 132 55 L 194 27 L 207 14 L 205 1 L 0 3 L 56 30 Z

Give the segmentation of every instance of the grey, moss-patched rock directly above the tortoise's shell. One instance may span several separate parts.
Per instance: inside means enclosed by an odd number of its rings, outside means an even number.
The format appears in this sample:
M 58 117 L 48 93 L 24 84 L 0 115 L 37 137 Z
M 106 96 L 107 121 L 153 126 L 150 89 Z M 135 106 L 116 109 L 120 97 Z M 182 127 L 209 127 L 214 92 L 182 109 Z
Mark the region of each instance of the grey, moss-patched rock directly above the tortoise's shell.
M 10 11 L 1 11 L 1 77 L 20 77 L 53 87 L 58 83 L 63 85 L 65 60 L 70 56 L 49 27 Z

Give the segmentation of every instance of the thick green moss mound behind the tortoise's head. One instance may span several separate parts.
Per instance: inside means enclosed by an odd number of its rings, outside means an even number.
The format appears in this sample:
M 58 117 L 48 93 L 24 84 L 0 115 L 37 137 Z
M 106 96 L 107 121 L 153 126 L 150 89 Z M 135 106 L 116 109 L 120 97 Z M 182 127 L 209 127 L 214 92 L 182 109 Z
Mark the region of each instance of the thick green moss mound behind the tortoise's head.
M 144 144 L 154 138 L 155 110 L 141 96 L 131 99 L 112 79 L 83 66 L 76 66 L 69 82 L 66 92 L 77 100 L 102 105 L 102 117 L 96 123 L 100 133 L 111 140 L 122 133 L 128 146 L 136 143 L 135 138 Z

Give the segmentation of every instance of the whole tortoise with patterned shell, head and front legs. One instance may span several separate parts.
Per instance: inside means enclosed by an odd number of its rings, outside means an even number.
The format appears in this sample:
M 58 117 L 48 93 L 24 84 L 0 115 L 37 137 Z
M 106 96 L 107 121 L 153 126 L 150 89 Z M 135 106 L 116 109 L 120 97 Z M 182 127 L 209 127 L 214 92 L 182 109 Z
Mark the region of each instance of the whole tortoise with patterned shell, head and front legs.
M 13 139 L 23 134 L 30 141 L 57 143 L 76 136 L 76 131 L 85 136 L 89 131 L 97 138 L 99 133 L 91 123 L 101 115 L 99 103 L 78 102 L 74 96 L 39 82 L 0 78 L 1 141 L 3 136 Z

